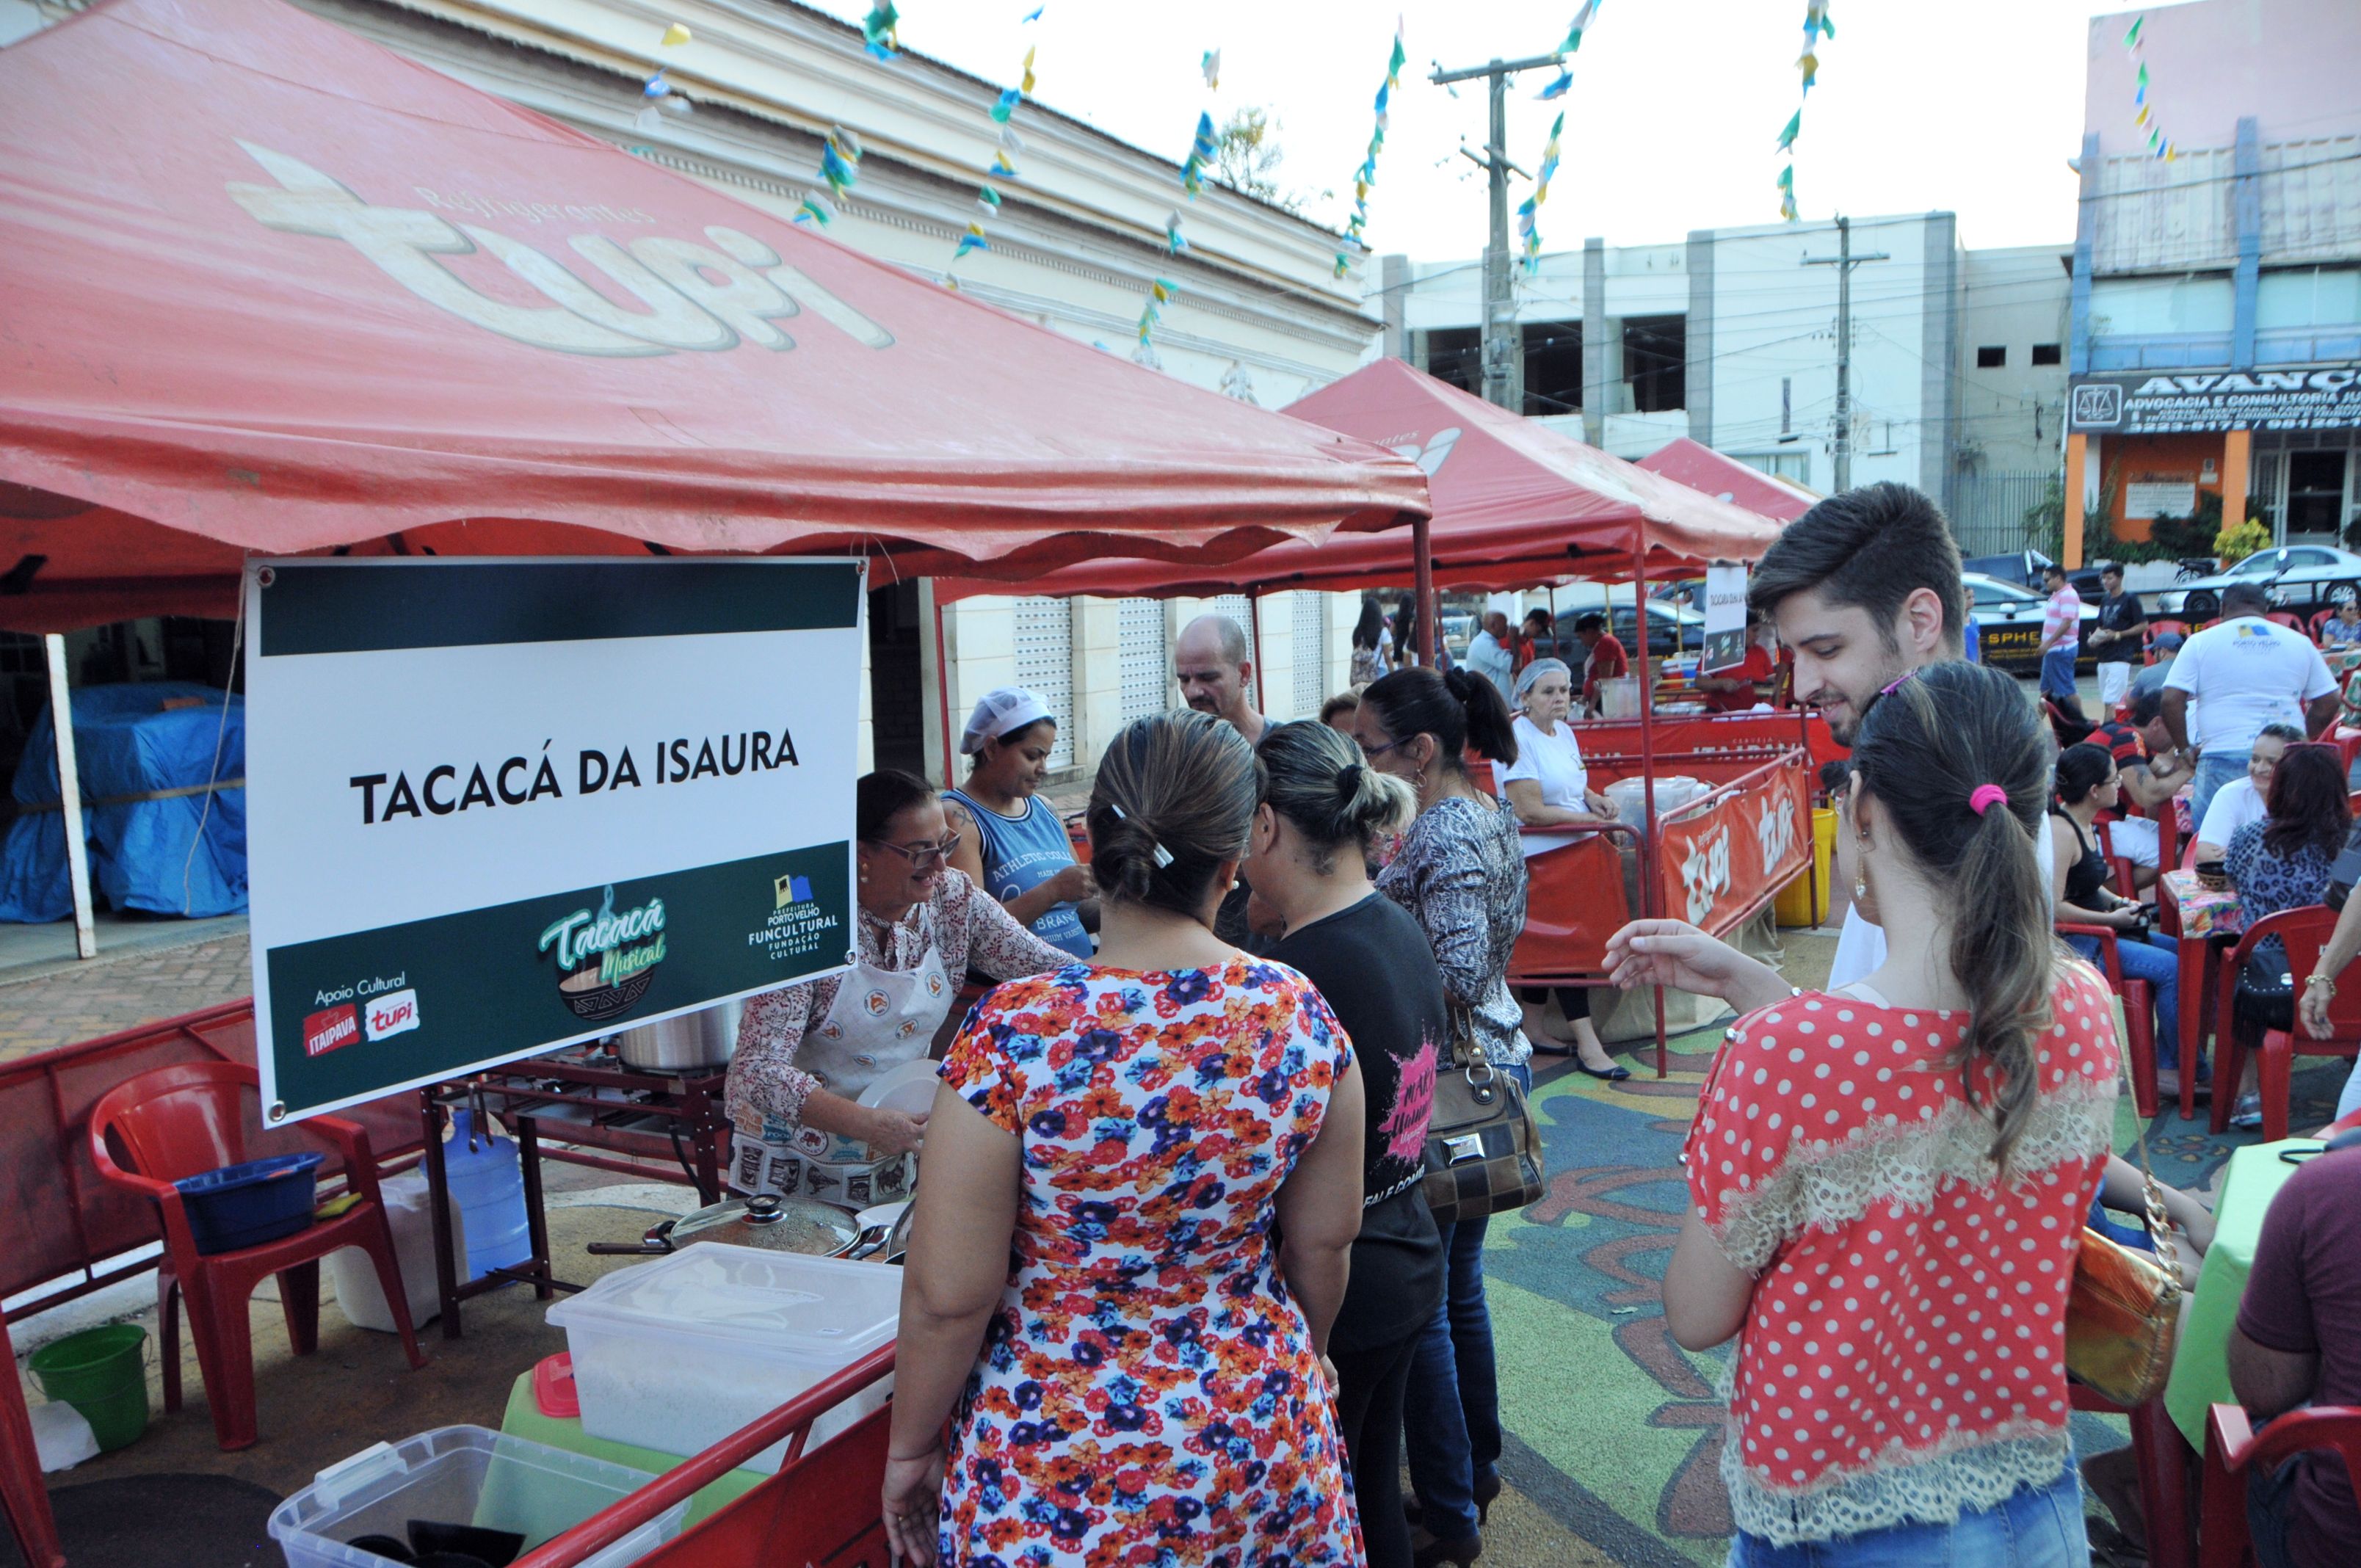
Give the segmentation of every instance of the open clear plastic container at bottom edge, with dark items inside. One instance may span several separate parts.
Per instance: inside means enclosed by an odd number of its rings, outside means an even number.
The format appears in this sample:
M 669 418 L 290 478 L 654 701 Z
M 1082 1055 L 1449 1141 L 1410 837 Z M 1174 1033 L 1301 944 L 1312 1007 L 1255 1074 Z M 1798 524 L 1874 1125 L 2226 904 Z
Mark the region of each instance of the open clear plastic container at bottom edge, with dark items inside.
M 390 1568 L 392 1559 L 347 1547 L 361 1535 L 404 1540 L 408 1521 L 432 1518 L 515 1530 L 531 1551 L 654 1481 L 604 1459 L 482 1426 L 437 1426 L 404 1443 L 364 1448 L 331 1464 L 312 1485 L 272 1509 L 272 1540 L 288 1568 Z M 680 1535 L 680 1500 L 583 1568 L 623 1568 Z

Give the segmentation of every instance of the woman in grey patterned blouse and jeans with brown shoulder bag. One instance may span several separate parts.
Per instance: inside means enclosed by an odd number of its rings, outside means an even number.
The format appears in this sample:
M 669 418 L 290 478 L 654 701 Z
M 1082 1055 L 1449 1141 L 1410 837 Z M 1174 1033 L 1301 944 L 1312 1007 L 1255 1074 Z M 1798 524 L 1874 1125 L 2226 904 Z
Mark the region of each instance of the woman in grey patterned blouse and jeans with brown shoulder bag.
M 1402 904 L 1435 949 L 1443 992 L 1464 1011 L 1495 1067 L 1532 1089 L 1525 1013 L 1509 992 L 1509 949 L 1525 928 L 1525 850 L 1516 812 L 1476 789 L 1469 744 L 1516 760 L 1509 704 L 1483 675 L 1395 671 L 1360 694 L 1353 734 L 1381 772 L 1410 779 L 1419 817 L 1376 890 Z M 1410 1370 L 1405 1438 L 1419 1490 L 1419 1563 L 1469 1563 L 1483 1551 L 1499 1495 L 1499 1377 L 1483 1299 L 1485 1221 L 1440 1226 L 1445 1266 L 1435 1311 Z

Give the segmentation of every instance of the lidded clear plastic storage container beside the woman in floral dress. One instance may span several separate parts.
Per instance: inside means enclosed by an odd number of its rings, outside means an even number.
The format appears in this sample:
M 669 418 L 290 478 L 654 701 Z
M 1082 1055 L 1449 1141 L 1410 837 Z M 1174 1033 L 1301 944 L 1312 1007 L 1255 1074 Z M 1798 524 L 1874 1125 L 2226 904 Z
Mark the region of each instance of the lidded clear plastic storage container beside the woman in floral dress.
M 696 1242 L 619 1268 L 550 1308 L 574 1353 L 583 1431 L 694 1455 L 892 1341 L 902 1270 Z M 869 1384 L 812 1422 L 807 1448 L 885 1403 Z M 786 1443 L 744 1469 L 777 1471 Z

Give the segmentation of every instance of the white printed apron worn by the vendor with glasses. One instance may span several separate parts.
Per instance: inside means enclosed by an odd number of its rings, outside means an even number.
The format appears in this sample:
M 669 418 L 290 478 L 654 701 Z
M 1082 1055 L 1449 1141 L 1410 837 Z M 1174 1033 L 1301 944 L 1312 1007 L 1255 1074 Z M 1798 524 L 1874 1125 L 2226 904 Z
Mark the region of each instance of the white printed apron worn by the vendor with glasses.
M 805 1030 L 796 1065 L 829 1093 L 857 1100 L 883 1074 L 926 1056 L 951 1013 L 951 978 L 933 940 L 916 968 L 855 963 L 836 987 L 829 1015 Z M 866 1209 L 909 1197 L 916 1157 L 874 1155 L 859 1138 L 765 1117 L 760 1138 L 732 1136 L 730 1181 L 746 1195 L 803 1195 Z

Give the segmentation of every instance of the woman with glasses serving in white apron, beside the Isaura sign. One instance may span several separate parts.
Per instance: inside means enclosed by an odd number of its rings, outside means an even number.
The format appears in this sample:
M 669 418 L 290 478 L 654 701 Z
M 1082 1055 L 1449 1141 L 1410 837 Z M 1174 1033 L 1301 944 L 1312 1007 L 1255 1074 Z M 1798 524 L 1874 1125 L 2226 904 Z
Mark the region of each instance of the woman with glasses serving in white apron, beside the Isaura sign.
M 862 1105 L 862 1091 L 926 1058 L 970 968 L 1015 980 L 1070 963 L 996 897 L 949 867 L 959 836 L 926 779 L 871 772 L 855 786 L 859 959 L 746 1001 L 730 1060 L 737 1129 L 730 1185 L 866 1207 L 909 1197 L 926 1115 Z

